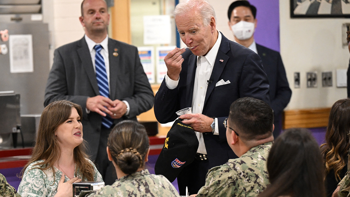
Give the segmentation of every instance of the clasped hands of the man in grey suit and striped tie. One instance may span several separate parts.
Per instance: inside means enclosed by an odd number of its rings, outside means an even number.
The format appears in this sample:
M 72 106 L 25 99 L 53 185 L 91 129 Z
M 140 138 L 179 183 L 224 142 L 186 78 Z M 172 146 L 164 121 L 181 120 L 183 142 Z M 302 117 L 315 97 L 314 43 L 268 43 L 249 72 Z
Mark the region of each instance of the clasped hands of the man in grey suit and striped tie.
M 110 98 L 101 95 L 87 98 L 86 108 L 101 116 L 108 114 L 113 119 L 121 118 L 127 111 L 127 106 L 123 101 L 118 99 L 112 101 Z

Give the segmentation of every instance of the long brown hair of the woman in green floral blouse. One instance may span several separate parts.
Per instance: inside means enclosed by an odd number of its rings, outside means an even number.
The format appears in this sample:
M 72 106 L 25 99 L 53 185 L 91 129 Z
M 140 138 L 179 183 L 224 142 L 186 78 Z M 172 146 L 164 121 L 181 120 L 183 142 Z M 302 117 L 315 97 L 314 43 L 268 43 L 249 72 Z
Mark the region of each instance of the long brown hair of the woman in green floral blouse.
M 21 177 L 23 177 L 23 173 L 29 164 L 42 159 L 44 161 L 35 164 L 37 165 L 35 168 L 41 170 L 51 168 L 52 172 L 54 172 L 53 174 L 55 180 L 54 164 L 61 156 L 61 148 L 59 147 L 58 141 L 55 137 L 55 131 L 59 125 L 69 119 L 72 113 L 72 108 L 75 108 L 79 116 L 83 117 L 82 108 L 78 104 L 70 101 L 54 101 L 45 107 L 43 113 L 41 114 L 35 146 L 33 148 L 30 161 L 22 169 Z M 83 140 L 83 143 L 75 147 L 73 150 L 73 157 L 76 164 L 75 176 L 77 176 L 77 169 L 79 169 L 79 173 L 83 176 L 81 177 L 83 181 L 93 181 L 94 168 L 93 165 L 87 160 L 88 156 L 85 153 L 85 143 L 85 140 Z

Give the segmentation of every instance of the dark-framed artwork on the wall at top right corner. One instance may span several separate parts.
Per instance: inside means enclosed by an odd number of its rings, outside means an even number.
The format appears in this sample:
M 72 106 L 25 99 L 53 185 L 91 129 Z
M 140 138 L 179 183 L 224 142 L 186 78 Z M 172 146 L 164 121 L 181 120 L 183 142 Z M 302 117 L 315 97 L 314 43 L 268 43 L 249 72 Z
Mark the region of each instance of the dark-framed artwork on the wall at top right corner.
M 350 0 L 290 0 L 291 18 L 350 18 Z

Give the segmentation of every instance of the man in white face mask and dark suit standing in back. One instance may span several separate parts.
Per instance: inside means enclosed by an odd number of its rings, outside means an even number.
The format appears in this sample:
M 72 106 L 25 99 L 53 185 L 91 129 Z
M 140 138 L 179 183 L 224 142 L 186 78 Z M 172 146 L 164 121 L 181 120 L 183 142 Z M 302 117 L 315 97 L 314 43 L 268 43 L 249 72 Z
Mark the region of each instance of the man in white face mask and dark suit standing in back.
M 248 1 L 234 1 L 228 10 L 229 27 L 235 36 L 234 41 L 253 50 L 261 58 L 270 84 L 270 106 L 275 117 L 273 136 L 276 138 L 281 131 L 281 114 L 289 103 L 292 90 L 289 88 L 280 53 L 255 43 L 256 14 L 257 8 Z

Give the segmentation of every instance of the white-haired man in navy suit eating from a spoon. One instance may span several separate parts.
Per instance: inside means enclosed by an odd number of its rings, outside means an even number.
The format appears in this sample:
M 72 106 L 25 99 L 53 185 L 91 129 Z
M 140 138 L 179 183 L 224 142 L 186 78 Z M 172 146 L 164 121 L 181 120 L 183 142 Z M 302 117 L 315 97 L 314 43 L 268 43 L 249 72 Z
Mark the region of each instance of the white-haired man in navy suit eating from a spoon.
M 177 177 L 180 195 L 197 193 L 212 167 L 237 158 L 226 141 L 224 120 L 233 101 L 254 97 L 269 103 L 269 85 L 258 54 L 235 43 L 216 29 L 213 7 L 205 0 L 189 0 L 174 11 L 177 30 L 191 49 L 175 48 L 165 57 L 168 68 L 155 96 L 154 112 L 160 123 L 180 116 L 196 131 L 197 159 Z

